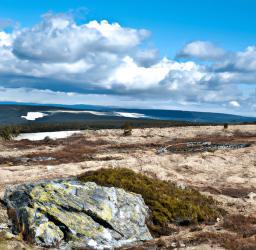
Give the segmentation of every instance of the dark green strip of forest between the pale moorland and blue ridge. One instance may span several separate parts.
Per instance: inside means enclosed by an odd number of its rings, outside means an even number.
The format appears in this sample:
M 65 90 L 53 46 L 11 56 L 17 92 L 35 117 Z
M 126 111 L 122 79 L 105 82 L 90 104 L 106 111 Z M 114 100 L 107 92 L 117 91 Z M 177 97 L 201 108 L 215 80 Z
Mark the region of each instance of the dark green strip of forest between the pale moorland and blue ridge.
M 130 123 L 132 128 L 144 127 L 172 127 L 172 126 L 199 126 L 219 125 L 209 122 L 189 122 L 179 120 L 160 119 L 127 119 L 127 120 L 104 120 L 104 121 L 63 121 L 63 122 L 31 122 L 16 124 L 19 133 L 53 132 L 63 130 L 85 130 L 85 129 L 114 129 L 124 128 L 125 123 Z

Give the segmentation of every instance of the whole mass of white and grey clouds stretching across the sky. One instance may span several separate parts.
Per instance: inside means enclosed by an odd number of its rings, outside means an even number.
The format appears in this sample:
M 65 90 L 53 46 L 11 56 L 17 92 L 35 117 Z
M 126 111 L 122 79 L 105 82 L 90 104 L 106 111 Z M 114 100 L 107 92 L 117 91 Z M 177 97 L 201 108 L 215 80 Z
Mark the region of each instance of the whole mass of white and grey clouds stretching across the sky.
M 36 93 L 41 103 L 125 103 L 256 115 L 256 91 L 245 97 L 239 88 L 256 82 L 253 45 L 234 53 L 212 41 L 194 40 L 175 58 L 202 64 L 178 62 L 159 58 L 159 50 L 150 48 L 154 43 L 146 42 L 149 30 L 106 20 L 77 25 L 73 15 L 51 11 L 41 17 L 38 24 L 11 34 L 2 29 L 16 24 L 0 20 L 2 101 L 34 101 Z

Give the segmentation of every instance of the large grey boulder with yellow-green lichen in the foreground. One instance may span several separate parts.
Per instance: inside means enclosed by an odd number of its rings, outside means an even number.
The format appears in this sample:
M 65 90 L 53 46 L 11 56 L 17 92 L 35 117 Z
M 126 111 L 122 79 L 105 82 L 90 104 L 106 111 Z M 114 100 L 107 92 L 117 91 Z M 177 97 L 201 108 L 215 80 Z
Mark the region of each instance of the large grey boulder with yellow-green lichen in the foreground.
M 4 195 L 14 233 L 35 245 L 115 248 L 151 239 L 140 194 L 76 177 L 9 186 Z

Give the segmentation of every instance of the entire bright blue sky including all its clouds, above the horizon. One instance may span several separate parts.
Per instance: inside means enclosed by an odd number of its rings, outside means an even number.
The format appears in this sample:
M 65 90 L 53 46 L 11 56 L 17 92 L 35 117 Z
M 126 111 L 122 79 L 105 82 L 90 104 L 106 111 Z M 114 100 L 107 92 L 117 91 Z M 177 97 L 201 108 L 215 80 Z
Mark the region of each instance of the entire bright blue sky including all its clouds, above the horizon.
M 12 0 L 0 102 L 256 117 L 255 0 Z

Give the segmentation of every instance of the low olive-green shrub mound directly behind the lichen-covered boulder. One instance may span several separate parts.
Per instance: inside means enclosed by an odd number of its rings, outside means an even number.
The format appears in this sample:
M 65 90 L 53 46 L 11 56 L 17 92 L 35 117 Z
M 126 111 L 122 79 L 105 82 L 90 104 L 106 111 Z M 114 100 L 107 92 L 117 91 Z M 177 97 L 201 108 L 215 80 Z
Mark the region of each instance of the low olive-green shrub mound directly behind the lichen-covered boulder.
M 125 191 L 141 194 L 145 204 L 152 211 L 155 225 L 164 226 L 166 222 L 184 220 L 197 223 L 212 219 L 218 214 L 213 207 L 216 201 L 195 190 L 181 190 L 175 183 L 155 180 L 146 175 L 122 168 L 100 168 L 79 174 L 77 178 L 83 182 L 92 181 L 102 186 L 114 186 Z

